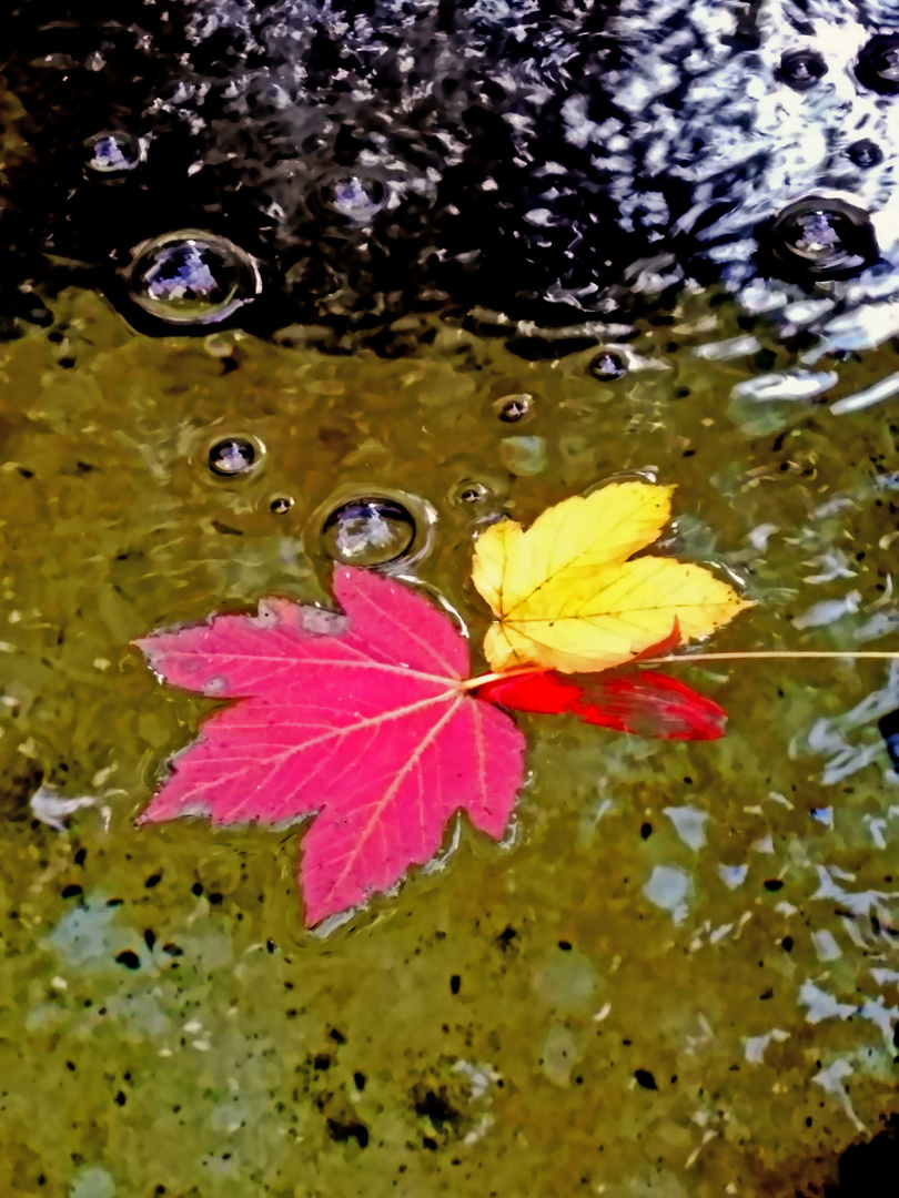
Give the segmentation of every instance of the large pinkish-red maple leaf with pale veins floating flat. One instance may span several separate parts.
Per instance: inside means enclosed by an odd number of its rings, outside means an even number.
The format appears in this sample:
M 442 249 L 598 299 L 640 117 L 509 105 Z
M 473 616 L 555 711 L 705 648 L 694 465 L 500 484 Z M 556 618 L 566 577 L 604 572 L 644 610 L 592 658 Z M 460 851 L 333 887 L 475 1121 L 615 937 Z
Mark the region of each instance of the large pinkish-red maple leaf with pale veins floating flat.
M 242 700 L 204 724 L 141 821 L 315 813 L 307 925 L 429 861 L 460 809 L 499 840 L 524 774 L 523 734 L 459 686 L 469 651 L 446 615 L 350 567 L 334 571 L 334 595 L 343 616 L 276 599 L 138 641 L 168 682 Z

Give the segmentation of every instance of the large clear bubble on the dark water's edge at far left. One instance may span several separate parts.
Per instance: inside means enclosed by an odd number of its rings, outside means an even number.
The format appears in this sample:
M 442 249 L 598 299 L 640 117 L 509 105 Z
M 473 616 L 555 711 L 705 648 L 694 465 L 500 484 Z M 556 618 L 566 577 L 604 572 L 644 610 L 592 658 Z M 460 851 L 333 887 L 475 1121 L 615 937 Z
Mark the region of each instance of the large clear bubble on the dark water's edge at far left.
M 144 242 L 128 271 L 132 300 L 168 325 L 215 325 L 260 291 L 259 267 L 227 237 L 181 229 Z

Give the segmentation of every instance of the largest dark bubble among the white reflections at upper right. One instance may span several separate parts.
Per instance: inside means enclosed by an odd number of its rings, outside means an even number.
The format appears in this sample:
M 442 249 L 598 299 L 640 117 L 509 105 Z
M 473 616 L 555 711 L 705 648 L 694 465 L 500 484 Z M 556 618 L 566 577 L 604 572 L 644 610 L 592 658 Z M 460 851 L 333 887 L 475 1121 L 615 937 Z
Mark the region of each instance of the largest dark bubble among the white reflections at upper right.
M 784 208 L 768 244 L 780 273 L 809 279 L 851 278 L 877 256 L 867 212 L 814 195 Z

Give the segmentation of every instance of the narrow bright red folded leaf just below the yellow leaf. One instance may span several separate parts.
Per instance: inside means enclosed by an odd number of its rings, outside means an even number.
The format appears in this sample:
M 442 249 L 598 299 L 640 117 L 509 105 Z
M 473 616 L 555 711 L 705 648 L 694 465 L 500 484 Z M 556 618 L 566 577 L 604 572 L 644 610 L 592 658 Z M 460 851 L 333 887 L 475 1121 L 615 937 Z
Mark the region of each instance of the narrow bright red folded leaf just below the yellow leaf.
M 682 682 L 651 670 L 598 676 L 530 671 L 478 688 L 517 712 L 577 715 L 587 724 L 662 740 L 714 740 L 728 714 Z

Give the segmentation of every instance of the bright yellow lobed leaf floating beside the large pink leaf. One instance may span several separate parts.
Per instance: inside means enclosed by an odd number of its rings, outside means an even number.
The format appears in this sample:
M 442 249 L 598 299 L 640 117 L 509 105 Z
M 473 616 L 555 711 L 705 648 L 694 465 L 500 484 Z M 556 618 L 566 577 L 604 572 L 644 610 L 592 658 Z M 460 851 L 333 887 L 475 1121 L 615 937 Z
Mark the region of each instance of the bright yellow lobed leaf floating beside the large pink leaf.
M 567 673 L 622 665 L 680 633 L 708 636 L 752 604 L 701 565 L 632 553 L 656 540 L 674 488 L 610 483 L 556 503 L 525 532 L 502 520 L 475 544 L 472 580 L 496 621 L 493 670 Z

